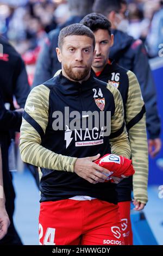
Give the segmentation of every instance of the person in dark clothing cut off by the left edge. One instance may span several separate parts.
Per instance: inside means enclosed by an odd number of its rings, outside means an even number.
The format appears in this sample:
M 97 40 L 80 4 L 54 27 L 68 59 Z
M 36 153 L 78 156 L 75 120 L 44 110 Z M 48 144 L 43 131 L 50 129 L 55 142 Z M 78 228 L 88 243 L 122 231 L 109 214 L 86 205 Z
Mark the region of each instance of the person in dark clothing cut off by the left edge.
M 15 139 L 15 131 L 20 130 L 23 108 L 30 88 L 20 54 L 2 37 L 0 37 L 0 44 L 3 46 L 3 54 L 0 57 L 0 136 L 5 207 L 10 219 L 8 233 L 0 241 L 0 245 L 22 245 L 13 222 L 15 191 L 12 185 L 12 175 L 9 172 L 8 151 L 11 138 Z M 19 108 L 17 111 L 14 107 L 14 96 Z

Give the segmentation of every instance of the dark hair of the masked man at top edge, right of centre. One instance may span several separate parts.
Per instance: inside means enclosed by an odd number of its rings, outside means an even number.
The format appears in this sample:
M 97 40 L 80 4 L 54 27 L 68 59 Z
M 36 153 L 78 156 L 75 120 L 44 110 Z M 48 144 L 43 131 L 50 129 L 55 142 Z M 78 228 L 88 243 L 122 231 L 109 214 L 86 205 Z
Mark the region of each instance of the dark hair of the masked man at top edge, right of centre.
M 111 11 L 118 13 L 121 10 L 121 3 L 118 0 L 95 0 L 92 10 L 107 16 Z

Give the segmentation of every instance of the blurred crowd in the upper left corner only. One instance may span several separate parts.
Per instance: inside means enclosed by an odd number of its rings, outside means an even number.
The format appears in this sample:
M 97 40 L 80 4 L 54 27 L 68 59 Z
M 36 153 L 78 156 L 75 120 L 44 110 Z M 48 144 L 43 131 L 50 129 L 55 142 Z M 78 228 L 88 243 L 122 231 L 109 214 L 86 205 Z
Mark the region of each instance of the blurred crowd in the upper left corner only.
M 2 0 L 0 34 L 9 39 L 27 64 L 35 63 L 46 34 L 68 17 L 66 1 Z

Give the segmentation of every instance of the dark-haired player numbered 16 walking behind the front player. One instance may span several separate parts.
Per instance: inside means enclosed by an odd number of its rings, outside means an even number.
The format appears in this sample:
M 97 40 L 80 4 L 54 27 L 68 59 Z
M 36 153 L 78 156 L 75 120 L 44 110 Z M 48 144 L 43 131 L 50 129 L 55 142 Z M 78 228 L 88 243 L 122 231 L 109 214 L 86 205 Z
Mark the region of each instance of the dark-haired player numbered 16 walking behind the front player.
M 145 104 L 134 73 L 123 69 L 114 60 L 108 58 L 110 47 L 114 44 L 114 35 L 111 34 L 111 23 L 108 19 L 102 14 L 92 13 L 86 15 L 80 23 L 89 27 L 95 35 L 96 55 L 92 63 L 93 75 L 97 79 L 116 87 L 122 95 L 135 174 L 133 176 L 133 186 L 132 177 L 129 177 L 118 183 L 116 190 L 118 192 L 118 206 L 124 242 L 125 245 L 133 245 L 130 221 L 132 187 L 135 210 L 142 210 L 148 201 L 148 145 Z

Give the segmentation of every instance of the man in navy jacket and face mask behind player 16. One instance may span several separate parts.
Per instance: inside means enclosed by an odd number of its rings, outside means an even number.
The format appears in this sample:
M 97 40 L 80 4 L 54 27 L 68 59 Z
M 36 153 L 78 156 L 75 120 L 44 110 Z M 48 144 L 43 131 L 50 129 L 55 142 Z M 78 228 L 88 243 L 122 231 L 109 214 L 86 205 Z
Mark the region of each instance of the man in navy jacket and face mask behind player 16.
M 112 25 L 114 45 L 110 48 L 110 58 L 127 70 L 133 71 L 139 81 L 146 106 L 146 124 L 149 135 L 149 154 L 155 157 L 161 149 L 160 118 L 156 106 L 156 91 L 149 66 L 146 49 L 141 40 L 135 40 L 122 30 L 127 3 L 124 0 L 95 0 L 93 11 L 103 14 Z

